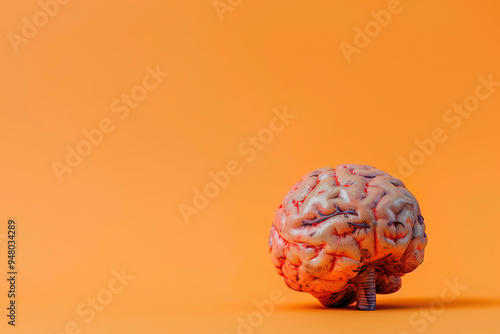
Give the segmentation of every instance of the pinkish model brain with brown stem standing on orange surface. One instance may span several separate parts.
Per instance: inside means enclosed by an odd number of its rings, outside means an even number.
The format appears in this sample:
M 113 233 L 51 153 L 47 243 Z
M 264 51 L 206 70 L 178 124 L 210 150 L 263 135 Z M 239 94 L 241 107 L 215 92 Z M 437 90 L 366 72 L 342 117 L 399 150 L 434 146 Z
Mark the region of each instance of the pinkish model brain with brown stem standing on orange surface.
M 401 288 L 427 244 L 424 219 L 403 182 L 368 165 L 306 174 L 275 213 L 269 250 L 278 273 L 328 307 L 357 301 L 375 309 L 376 293 Z

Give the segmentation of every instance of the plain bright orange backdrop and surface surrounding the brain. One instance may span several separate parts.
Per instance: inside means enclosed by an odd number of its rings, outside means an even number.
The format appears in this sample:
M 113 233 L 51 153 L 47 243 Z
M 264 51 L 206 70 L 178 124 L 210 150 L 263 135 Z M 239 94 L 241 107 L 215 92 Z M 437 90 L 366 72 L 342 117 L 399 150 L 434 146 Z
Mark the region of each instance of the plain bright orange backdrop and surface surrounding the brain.
M 74 0 L 18 53 L 7 36 L 40 5 L 4 4 L 0 234 L 14 217 L 20 274 L 15 328 L 2 279 L 1 331 L 63 333 L 75 321 L 92 334 L 232 334 L 278 289 L 285 302 L 253 332 L 419 333 L 410 319 L 456 278 L 467 289 L 423 332 L 498 333 L 500 87 L 456 130 L 443 115 L 478 76 L 500 81 L 500 6 L 401 1 L 348 63 L 340 44 L 388 1 L 232 3 L 221 20 L 211 0 Z M 111 103 L 157 64 L 169 76 L 121 120 Z M 284 107 L 296 117 L 247 161 L 238 146 Z M 104 118 L 114 131 L 59 182 L 52 163 Z M 285 287 L 267 243 L 291 186 L 341 163 L 398 173 L 436 128 L 447 140 L 405 178 L 429 244 L 402 290 L 358 312 Z M 187 224 L 179 205 L 231 160 L 241 173 Z M 122 268 L 135 279 L 85 323 L 76 307 Z

